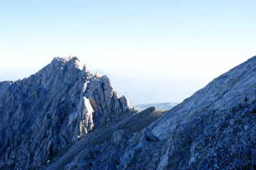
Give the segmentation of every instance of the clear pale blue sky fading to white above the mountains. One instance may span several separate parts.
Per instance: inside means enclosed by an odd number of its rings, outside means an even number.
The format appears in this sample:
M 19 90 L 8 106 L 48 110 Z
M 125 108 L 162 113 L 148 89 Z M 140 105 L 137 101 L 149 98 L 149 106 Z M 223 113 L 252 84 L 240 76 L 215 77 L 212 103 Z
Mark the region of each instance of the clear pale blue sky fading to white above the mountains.
M 0 81 L 76 55 L 118 76 L 186 83 L 189 95 L 256 55 L 255 8 L 246 0 L 0 1 Z

